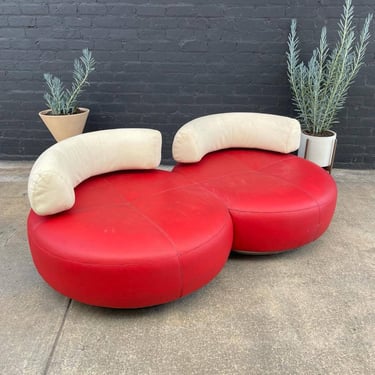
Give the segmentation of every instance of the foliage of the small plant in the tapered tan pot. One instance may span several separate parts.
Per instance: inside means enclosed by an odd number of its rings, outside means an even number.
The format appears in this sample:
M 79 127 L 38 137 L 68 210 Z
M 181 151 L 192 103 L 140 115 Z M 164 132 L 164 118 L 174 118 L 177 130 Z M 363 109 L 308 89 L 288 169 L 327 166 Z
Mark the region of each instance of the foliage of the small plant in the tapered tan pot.
M 60 78 L 50 73 L 44 74 L 49 92 L 44 94 L 52 115 L 69 115 L 78 111 L 78 96 L 89 85 L 88 76 L 95 70 L 95 60 L 86 48 L 82 56 L 74 60 L 73 83 L 71 89 L 65 89 Z

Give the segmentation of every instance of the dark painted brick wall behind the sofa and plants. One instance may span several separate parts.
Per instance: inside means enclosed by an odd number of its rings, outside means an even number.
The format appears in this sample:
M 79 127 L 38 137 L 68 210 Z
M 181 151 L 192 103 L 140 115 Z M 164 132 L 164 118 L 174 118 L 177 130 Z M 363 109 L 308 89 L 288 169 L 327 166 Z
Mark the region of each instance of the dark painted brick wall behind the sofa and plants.
M 70 85 L 72 61 L 93 51 L 97 70 L 81 104 L 86 131 L 150 127 L 164 162 L 185 122 L 205 114 L 293 115 L 285 51 L 290 20 L 310 52 L 329 40 L 343 0 L 29 0 L 0 2 L 0 159 L 33 159 L 53 143 L 38 118 L 44 72 Z M 354 0 L 361 21 L 374 0 Z M 375 43 L 336 126 L 336 166 L 375 167 Z M 332 44 L 332 43 L 331 43 Z

